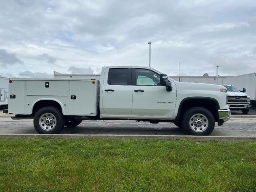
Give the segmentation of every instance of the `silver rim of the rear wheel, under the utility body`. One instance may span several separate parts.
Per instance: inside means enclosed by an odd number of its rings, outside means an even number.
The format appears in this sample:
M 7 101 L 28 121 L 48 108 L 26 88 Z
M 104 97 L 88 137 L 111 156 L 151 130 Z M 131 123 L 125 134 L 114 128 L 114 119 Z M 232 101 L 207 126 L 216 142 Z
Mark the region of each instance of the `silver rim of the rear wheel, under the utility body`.
M 52 113 L 44 113 L 39 118 L 39 125 L 45 131 L 50 131 L 54 129 L 56 123 L 56 117 Z

